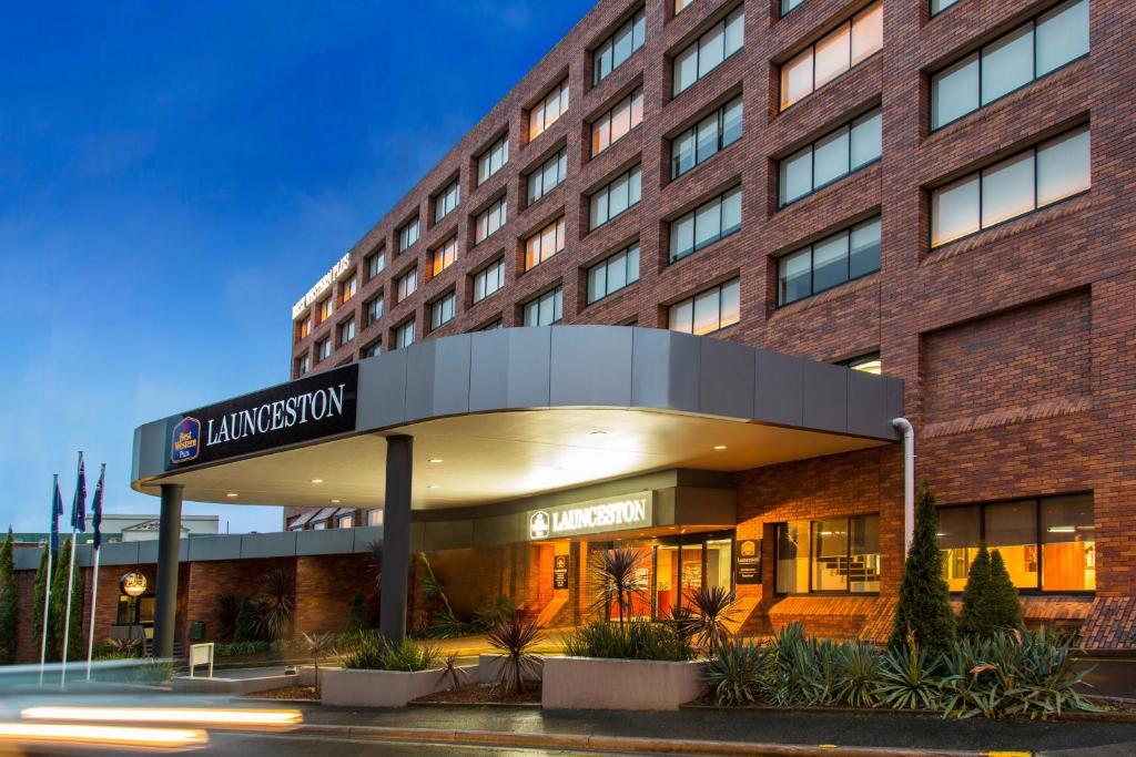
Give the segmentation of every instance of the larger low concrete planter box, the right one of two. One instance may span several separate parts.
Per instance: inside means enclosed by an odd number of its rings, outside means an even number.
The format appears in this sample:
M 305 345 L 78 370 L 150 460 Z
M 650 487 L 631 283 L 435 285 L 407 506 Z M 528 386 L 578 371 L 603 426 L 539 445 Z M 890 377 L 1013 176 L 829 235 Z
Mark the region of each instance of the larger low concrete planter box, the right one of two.
M 678 709 L 702 693 L 703 663 L 546 657 L 545 709 Z

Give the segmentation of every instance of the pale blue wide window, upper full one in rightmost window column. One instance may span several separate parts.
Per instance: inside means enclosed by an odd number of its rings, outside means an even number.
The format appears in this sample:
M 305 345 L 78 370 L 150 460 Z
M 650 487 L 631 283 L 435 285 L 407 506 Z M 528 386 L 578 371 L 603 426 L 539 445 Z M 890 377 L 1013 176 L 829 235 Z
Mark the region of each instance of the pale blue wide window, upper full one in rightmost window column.
M 1088 54 L 1088 0 L 1071 0 L 930 78 L 930 127 L 941 128 Z

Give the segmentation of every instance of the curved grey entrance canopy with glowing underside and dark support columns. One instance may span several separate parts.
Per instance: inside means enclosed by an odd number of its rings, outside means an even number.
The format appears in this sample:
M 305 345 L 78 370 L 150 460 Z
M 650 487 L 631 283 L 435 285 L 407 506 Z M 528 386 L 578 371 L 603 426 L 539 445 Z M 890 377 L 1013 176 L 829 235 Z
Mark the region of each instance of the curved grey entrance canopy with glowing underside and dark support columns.
M 901 403 L 895 379 L 709 337 L 501 329 L 147 423 L 135 431 L 132 486 L 173 496 L 176 485 L 192 502 L 383 507 L 382 626 L 398 639 L 412 520 L 468 523 L 456 528 L 468 528 L 475 549 L 485 538 L 525 541 L 525 501 L 657 471 L 726 474 L 886 445 L 899 439 L 891 421 Z M 235 419 L 227 438 L 225 419 Z M 713 512 L 688 493 L 667 502 L 649 528 Z M 729 523 L 715 512 L 707 525 Z M 174 544 L 159 553 L 176 564 Z M 159 586 L 159 607 L 162 590 L 176 583 Z M 159 651 L 173 644 L 164 622 L 159 613 Z

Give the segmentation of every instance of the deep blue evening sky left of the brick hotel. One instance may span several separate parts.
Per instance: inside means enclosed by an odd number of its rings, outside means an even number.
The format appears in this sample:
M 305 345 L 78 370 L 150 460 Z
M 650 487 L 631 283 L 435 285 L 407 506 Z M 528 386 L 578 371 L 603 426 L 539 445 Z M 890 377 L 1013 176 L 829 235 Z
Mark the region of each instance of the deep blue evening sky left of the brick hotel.
M 591 5 L 6 7 L 0 527 L 44 530 L 78 449 L 109 511 L 156 512 L 134 427 L 286 379 L 292 303 Z

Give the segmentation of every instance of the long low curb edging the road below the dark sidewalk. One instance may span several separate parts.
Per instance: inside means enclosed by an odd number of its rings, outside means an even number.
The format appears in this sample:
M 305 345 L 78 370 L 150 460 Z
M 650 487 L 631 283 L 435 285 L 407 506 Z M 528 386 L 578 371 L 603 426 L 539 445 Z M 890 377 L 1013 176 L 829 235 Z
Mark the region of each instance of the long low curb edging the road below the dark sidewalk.
M 695 739 L 653 739 L 643 737 L 588 735 L 586 733 L 520 733 L 510 731 L 460 731 L 359 725 L 304 724 L 292 733 L 337 735 L 381 741 L 457 743 L 478 747 L 529 747 L 582 749 L 593 751 L 762 755 L 766 757 L 986 757 L 997 752 L 958 750 L 912 750 L 889 747 L 841 747 L 837 745 L 782 745 L 749 741 L 704 741 Z M 1001 752 L 1008 754 L 1008 752 Z M 1029 752 L 1012 752 L 1028 756 Z

